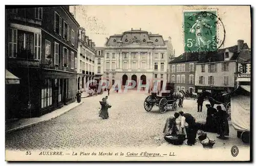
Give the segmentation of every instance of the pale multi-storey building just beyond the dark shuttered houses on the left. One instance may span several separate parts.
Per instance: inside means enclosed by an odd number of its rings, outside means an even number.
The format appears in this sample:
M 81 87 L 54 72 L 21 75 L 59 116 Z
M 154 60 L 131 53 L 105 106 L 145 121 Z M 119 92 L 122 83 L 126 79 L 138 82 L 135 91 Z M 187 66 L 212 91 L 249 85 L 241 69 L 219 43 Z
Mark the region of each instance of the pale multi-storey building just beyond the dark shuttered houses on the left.
M 77 56 L 77 89 L 84 91 L 87 81 L 94 79 L 95 44 L 86 36 L 86 30 L 79 27 Z

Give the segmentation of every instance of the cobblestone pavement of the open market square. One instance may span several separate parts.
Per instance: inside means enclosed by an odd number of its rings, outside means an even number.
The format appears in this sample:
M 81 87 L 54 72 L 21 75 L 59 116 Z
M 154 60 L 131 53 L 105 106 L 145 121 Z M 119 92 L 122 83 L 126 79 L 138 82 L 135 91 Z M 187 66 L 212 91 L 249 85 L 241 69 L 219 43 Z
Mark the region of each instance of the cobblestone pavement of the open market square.
M 46 150 L 95 147 L 158 147 L 165 141 L 163 127 L 173 111 L 161 114 L 154 106 L 143 107 L 147 94 L 129 91 L 109 96 L 110 118 L 98 117 L 99 100 L 106 95 L 83 98 L 84 103 L 70 112 L 39 125 L 6 134 L 8 150 Z M 205 103 L 204 103 L 205 105 Z M 206 108 L 197 112 L 196 100 L 184 100 L 177 111 L 192 114 L 198 121 L 206 119 Z M 230 126 L 231 127 L 231 126 Z

